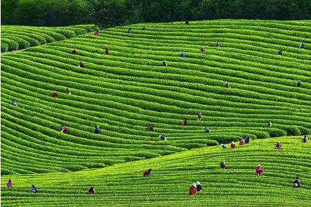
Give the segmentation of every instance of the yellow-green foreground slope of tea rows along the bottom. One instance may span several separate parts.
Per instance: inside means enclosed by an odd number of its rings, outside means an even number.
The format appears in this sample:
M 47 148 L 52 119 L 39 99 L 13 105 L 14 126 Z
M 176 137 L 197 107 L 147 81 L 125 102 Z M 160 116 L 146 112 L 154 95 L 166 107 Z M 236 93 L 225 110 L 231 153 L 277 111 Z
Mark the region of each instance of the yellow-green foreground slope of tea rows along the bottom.
M 76 173 L 1 176 L 3 206 L 309 206 L 310 143 L 302 137 L 255 140 L 236 149 L 211 146 Z M 282 143 L 276 150 L 275 143 Z M 225 160 L 226 169 L 220 168 Z M 256 176 L 261 164 L 263 175 Z M 143 171 L 152 168 L 150 177 Z M 299 176 L 301 187 L 293 188 Z M 193 182 L 203 190 L 189 195 Z M 38 193 L 32 193 L 31 186 Z M 95 194 L 87 190 L 94 187 Z M 220 190 L 221 189 L 221 190 Z M 74 198 L 74 199 L 72 199 Z M 280 199 L 281 198 L 281 199 Z

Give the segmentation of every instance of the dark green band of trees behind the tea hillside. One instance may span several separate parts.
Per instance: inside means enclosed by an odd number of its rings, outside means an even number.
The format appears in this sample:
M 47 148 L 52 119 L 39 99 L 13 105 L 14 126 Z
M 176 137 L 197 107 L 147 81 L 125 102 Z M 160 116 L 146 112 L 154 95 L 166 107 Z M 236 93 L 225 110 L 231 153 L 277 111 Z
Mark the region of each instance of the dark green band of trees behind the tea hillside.
M 143 22 L 203 19 L 310 19 L 308 0 L 3 0 L 2 24 L 63 26 L 97 23 L 108 28 Z

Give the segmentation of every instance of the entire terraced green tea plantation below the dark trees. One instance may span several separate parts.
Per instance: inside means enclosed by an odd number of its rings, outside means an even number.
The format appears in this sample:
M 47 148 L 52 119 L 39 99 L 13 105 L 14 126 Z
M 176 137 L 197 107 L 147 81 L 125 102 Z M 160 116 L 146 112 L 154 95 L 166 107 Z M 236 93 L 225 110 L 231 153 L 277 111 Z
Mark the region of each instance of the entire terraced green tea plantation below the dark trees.
M 1 52 L 39 42 L 1 55 L 3 206 L 308 206 L 311 152 L 300 142 L 311 130 L 311 21 L 87 28 L 1 28 Z M 247 146 L 219 146 L 247 136 Z M 297 175 L 303 185 L 293 189 Z M 8 179 L 13 188 L 3 188 Z M 197 180 L 203 192 L 189 197 Z

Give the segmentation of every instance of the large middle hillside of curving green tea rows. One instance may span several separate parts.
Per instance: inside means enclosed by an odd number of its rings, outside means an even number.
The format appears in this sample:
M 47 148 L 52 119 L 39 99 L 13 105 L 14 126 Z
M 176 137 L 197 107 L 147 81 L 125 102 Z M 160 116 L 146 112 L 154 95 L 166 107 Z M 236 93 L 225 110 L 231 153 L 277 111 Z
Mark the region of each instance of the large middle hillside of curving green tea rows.
M 247 136 L 308 134 L 310 28 L 303 24 L 198 21 L 146 24 L 147 30 L 137 24 L 4 54 L 1 173 L 79 171 Z M 101 134 L 94 134 L 97 125 Z

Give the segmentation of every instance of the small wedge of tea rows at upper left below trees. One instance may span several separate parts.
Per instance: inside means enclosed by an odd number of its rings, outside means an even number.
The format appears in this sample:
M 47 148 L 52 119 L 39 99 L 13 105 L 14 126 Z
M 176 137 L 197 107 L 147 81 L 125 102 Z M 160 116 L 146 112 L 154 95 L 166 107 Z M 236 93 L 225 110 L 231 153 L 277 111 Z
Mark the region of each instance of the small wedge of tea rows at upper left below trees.
M 28 47 L 63 41 L 93 31 L 95 25 L 74 25 L 61 28 L 1 26 L 1 52 L 23 50 Z

